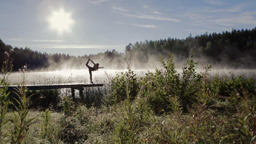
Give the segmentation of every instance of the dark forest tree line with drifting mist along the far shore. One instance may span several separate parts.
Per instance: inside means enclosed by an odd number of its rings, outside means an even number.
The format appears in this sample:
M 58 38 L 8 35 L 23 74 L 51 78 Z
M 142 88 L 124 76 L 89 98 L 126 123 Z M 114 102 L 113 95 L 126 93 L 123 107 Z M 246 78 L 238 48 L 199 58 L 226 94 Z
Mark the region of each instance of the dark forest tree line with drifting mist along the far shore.
M 102 65 L 113 69 L 125 68 L 125 58 L 133 52 L 134 61 L 139 61 L 140 65 L 147 63 L 153 56 L 155 58 L 167 55 L 169 52 L 175 56 L 189 55 L 190 49 L 195 51 L 195 56 L 209 59 L 209 62 L 233 62 L 235 66 L 243 68 L 255 68 L 256 60 L 256 27 L 252 30 L 241 29 L 232 31 L 223 31 L 222 33 L 207 33 L 188 35 L 185 39 L 167 38 L 155 41 L 145 40 L 144 42 L 129 43 L 124 52 L 118 52 L 115 49 L 105 51 L 104 53 L 90 54 L 75 57 L 69 54 L 48 54 L 46 52 L 33 51 L 25 47 L 12 47 L 6 45 L 0 39 L 0 62 L 4 60 L 4 52 L 13 49 L 11 58 L 13 58 L 13 70 L 17 71 L 22 65 L 28 65 L 29 69 L 47 69 L 57 70 L 59 67 L 68 67 L 70 69 L 81 69 L 85 65 L 88 57 L 97 59 Z M 112 64 L 115 64 L 114 67 Z M 124 65 L 124 66 L 123 66 Z M 53 66 L 53 67 L 51 67 Z

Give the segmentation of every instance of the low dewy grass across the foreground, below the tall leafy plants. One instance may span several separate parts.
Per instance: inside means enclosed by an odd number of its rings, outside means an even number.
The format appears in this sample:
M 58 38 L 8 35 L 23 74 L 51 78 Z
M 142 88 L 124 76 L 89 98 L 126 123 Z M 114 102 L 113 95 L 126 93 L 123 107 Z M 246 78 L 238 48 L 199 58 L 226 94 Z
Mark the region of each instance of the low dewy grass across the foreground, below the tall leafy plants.
M 143 110 L 138 109 L 138 102 L 143 104 Z M 230 123 L 236 123 L 234 118 L 237 113 L 231 113 L 234 109 L 228 101 L 217 101 L 212 99 L 208 102 L 208 107 L 191 107 L 185 113 L 173 113 L 165 111 L 164 113 L 155 113 L 147 105 L 145 98 L 135 98 L 131 103 L 134 107 L 134 121 L 137 131 L 134 135 L 136 143 L 239 143 L 239 135 L 235 126 Z M 210 105 L 214 105 L 211 106 Z M 239 105 L 242 105 L 239 103 Z M 124 101 L 120 101 L 111 106 L 83 104 L 75 105 L 69 116 L 62 112 L 53 112 L 50 117 L 52 131 L 57 130 L 51 135 L 51 138 L 43 137 L 43 132 L 37 124 L 43 125 L 42 112 L 30 110 L 28 118 L 35 118 L 26 131 L 23 142 L 27 143 L 116 143 L 118 136 L 117 126 L 125 122 L 126 116 L 123 115 L 127 109 Z M 242 110 L 242 109 L 241 109 Z M 12 116 L 12 113 L 7 113 Z M 141 118 L 142 117 L 142 118 Z M 8 118 L 8 117 L 6 117 Z M 12 122 L 5 126 L 11 129 Z M 221 130 L 220 130 L 221 129 Z M 211 133 L 212 131 L 212 133 Z M 216 133 L 214 135 L 214 133 Z M 6 143 L 10 140 L 7 134 L 3 138 Z M 230 135 L 234 134 L 234 135 Z M 214 135 L 214 136 L 212 136 Z M 230 135 L 230 136 L 229 136 Z M 54 139 L 52 139 L 54 138 Z M 222 138 L 225 138 L 222 140 Z M 131 142 L 127 139 L 127 142 Z M 252 142 L 255 142 L 253 140 Z

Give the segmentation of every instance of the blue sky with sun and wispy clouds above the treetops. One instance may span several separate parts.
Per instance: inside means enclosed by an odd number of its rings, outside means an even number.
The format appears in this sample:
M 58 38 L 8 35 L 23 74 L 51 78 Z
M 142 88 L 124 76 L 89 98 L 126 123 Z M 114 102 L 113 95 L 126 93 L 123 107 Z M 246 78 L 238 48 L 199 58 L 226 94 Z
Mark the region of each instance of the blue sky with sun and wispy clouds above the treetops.
M 247 0 L 1 0 L 0 39 L 75 56 L 123 53 L 129 43 L 256 26 Z

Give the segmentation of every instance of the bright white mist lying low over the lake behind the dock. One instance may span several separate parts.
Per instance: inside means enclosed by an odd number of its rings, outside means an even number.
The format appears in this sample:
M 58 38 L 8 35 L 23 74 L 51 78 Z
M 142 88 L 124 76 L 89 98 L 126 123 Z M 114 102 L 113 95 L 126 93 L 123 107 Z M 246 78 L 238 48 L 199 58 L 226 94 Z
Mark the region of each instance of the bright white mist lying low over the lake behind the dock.
M 201 67 L 198 67 L 196 69 L 197 73 L 202 72 L 202 69 L 200 69 Z M 160 70 L 160 68 L 158 68 Z M 114 77 L 116 76 L 116 74 L 121 75 L 121 72 L 125 72 L 127 71 L 127 69 L 124 70 L 109 70 L 109 69 L 99 69 L 98 71 L 92 71 L 92 78 L 93 81 L 94 79 L 107 79 L 107 76 L 105 74 L 105 72 L 110 76 L 110 77 Z M 137 76 L 142 77 L 145 76 L 145 73 L 148 72 L 148 70 L 133 70 L 134 74 L 137 74 Z M 155 73 L 155 69 L 150 69 L 150 72 Z M 177 70 L 178 73 L 182 73 L 182 69 L 178 69 Z M 252 77 L 253 75 L 255 75 L 256 70 L 250 70 L 250 69 L 246 69 L 246 70 L 232 70 L 232 69 L 211 69 L 211 71 L 209 71 L 210 75 L 215 75 L 218 74 L 219 75 L 231 75 L 234 74 L 235 76 L 237 75 L 245 75 L 247 77 Z M 61 70 L 61 71 L 48 71 L 48 72 L 40 72 L 40 71 L 29 71 L 26 72 L 26 80 L 27 80 L 27 84 L 30 85 L 33 82 L 38 82 L 38 81 L 45 81 L 47 78 L 54 80 L 55 82 L 59 81 L 60 83 L 67 83 L 68 79 L 72 79 L 73 82 L 89 82 L 90 80 L 90 74 L 89 74 L 89 70 L 88 69 L 84 69 L 84 70 Z M 0 76 L 1 78 L 3 78 L 3 76 Z M 8 78 L 8 82 L 13 85 L 14 83 L 20 83 L 20 79 L 21 79 L 21 73 L 20 72 L 13 72 L 10 74 L 9 78 Z

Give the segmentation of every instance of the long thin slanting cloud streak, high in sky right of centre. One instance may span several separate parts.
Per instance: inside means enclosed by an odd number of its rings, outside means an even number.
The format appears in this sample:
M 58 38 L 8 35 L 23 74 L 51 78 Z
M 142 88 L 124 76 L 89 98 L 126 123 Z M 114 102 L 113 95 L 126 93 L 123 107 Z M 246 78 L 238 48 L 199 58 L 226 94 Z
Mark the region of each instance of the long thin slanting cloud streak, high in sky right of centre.
M 117 11 L 113 11 L 113 12 L 122 14 L 125 17 L 135 17 L 135 18 L 146 18 L 146 19 L 157 19 L 157 20 L 180 22 L 180 20 L 173 19 L 173 18 L 156 17 L 156 16 L 152 16 L 152 15 L 145 15 L 145 14 L 125 14 L 125 13 L 121 13 L 121 12 L 117 12 Z

